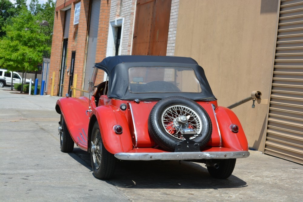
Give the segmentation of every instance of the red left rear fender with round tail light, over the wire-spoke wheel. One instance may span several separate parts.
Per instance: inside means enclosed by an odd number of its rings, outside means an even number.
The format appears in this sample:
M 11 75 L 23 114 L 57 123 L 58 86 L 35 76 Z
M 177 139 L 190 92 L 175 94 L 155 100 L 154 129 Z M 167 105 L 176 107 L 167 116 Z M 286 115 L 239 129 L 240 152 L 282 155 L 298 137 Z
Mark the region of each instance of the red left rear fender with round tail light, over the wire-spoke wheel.
M 133 149 L 128 122 L 125 114 L 120 109 L 111 105 L 99 106 L 92 111 L 92 116 L 95 116 L 98 121 L 102 141 L 107 151 L 116 154 Z M 93 124 L 91 123 L 91 126 Z M 115 125 L 122 126 L 122 134 L 118 135 L 114 132 Z M 91 137 L 91 134 L 89 134 L 89 137 Z

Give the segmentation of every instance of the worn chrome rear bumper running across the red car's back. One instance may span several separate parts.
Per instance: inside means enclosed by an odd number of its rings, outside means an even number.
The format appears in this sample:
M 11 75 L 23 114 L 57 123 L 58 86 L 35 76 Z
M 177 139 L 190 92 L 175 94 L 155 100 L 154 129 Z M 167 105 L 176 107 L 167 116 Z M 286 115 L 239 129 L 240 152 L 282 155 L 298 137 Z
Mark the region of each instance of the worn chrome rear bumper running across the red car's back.
M 151 160 L 193 160 L 193 159 L 228 159 L 246 158 L 249 151 L 209 151 L 209 152 L 154 152 L 154 153 L 126 153 L 115 154 L 120 160 L 151 161 Z

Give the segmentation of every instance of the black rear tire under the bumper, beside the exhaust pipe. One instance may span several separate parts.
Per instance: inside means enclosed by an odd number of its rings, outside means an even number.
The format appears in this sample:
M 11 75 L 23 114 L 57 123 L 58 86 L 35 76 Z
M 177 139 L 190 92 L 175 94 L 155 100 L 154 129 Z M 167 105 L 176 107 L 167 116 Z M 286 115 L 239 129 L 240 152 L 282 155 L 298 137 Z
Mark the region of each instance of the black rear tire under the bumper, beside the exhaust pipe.
M 219 165 L 219 168 L 207 167 L 209 174 L 213 178 L 226 179 L 231 176 L 232 171 L 234 171 L 236 159 L 230 158 L 224 160 L 216 160 L 214 162 Z

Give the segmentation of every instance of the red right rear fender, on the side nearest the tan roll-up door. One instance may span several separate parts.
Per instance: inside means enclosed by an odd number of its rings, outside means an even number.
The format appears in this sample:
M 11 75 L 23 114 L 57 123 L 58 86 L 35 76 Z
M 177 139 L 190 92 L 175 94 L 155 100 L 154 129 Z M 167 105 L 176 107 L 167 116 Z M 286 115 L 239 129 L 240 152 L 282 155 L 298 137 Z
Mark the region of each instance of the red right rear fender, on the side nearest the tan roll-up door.
M 230 109 L 221 106 L 218 107 L 215 112 L 217 115 L 218 125 L 221 132 L 222 146 L 238 151 L 248 151 L 247 139 L 245 137 L 241 123 L 235 113 Z M 231 124 L 239 126 L 238 133 L 234 133 L 231 131 Z

